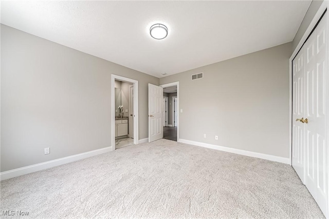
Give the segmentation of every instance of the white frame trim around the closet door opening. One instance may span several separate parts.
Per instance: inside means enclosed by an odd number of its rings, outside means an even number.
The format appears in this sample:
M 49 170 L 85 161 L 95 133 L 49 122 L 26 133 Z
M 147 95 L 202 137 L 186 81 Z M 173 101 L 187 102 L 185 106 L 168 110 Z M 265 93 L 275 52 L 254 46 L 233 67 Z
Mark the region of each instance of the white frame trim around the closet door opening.
M 328 7 L 328 2 L 323 1 L 319 10 L 315 14 L 312 22 L 310 22 L 308 28 L 306 29 L 303 37 L 300 39 L 300 42 L 298 43 L 296 49 L 294 50 L 293 54 L 289 58 L 289 160 L 290 160 L 290 166 L 293 166 L 293 163 L 292 163 L 293 154 L 291 153 L 291 150 L 293 149 L 293 145 L 292 145 L 292 143 L 293 143 L 293 141 L 292 141 L 292 136 L 293 136 L 293 129 L 292 129 L 292 126 L 293 126 L 293 59 L 295 58 L 295 56 L 297 55 L 299 50 L 304 45 L 304 42 L 306 41 L 308 35 L 312 32 L 313 28 L 318 23 L 319 19 L 321 18 L 323 12 L 326 10 L 327 7 Z M 328 11 L 326 13 L 328 13 Z M 328 52 L 329 52 L 329 46 L 327 44 L 327 54 L 329 54 Z M 329 62 L 327 62 L 327 66 L 329 67 L 328 64 L 329 64 Z M 327 69 L 329 69 L 329 68 L 327 68 Z M 327 77 L 327 79 L 328 79 L 328 85 L 329 85 L 329 77 Z M 328 92 L 328 96 L 329 96 L 329 92 Z M 327 107 L 327 108 L 329 109 L 329 107 Z M 329 115 L 329 112 L 327 112 L 327 115 Z M 329 126 L 329 121 L 327 121 L 327 126 Z M 327 146 L 329 146 L 328 143 L 329 142 L 327 142 Z M 329 148 L 327 148 L 327 151 L 329 151 L 328 149 Z M 329 161 L 329 159 L 328 159 L 328 161 Z M 329 174 L 328 174 L 327 182 L 329 182 Z

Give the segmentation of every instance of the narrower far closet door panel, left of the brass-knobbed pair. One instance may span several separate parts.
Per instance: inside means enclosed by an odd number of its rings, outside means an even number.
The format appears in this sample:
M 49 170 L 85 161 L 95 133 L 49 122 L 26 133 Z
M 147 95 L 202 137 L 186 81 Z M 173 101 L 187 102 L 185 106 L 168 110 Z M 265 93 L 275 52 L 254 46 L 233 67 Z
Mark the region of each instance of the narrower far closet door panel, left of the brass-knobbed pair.
M 304 182 L 304 124 L 296 121 L 304 116 L 304 50 L 293 61 L 293 152 L 292 163 Z

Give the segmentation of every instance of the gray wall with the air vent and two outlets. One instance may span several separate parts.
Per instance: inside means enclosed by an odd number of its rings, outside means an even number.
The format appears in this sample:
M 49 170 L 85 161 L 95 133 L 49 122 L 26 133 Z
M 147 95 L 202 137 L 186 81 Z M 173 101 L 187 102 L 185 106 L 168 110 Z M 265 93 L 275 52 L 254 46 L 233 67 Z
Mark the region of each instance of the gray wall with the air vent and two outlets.
M 292 46 L 287 43 L 160 78 L 161 85 L 179 82 L 179 137 L 289 157 Z M 199 72 L 204 78 L 191 81 Z

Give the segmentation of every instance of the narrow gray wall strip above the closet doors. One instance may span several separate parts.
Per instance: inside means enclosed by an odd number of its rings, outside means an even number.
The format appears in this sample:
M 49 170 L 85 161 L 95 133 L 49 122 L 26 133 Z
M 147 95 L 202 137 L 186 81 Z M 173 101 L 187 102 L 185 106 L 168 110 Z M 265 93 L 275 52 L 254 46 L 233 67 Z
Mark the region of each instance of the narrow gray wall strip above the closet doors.
M 303 21 L 296 33 L 296 36 L 294 38 L 293 41 L 293 51 L 296 49 L 300 39 L 302 38 L 302 36 L 304 35 L 307 27 L 309 26 L 310 22 L 312 21 L 314 15 L 317 13 L 318 9 L 320 8 L 321 4 L 322 4 L 323 0 L 313 0 L 312 3 L 310 4 L 304 18 Z

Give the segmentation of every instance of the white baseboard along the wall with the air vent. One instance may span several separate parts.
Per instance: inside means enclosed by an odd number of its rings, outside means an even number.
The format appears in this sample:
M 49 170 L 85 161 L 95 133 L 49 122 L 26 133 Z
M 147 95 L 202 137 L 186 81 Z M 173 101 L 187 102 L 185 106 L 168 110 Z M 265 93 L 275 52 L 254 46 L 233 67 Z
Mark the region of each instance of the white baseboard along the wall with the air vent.
M 223 146 L 218 146 L 218 145 L 211 145 L 211 144 L 202 143 L 202 142 L 194 142 L 194 141 L 185 140 L 185 139 L 181 139 L 181 138 L 178 140 L 178 142 L 189 144 L 189 145 L 205 147 L 205 148 L 211 148 L 211 149 L 220 150 L 220 151 L 226 151 L 226 152 L 235 153 L 235 154 L 241 154 L 241 155 L 245 155 L 245 156 L 257 157 L 257 158 L 261 158 L 264 160 L 275 161 L 275 162 L 280 162 L 280 163 L 284 163 L 284 164 L 290 164 L 290 159 L 288 157 L 274 156 L 274 155 L 263 154 L 263 153 L 252 152 L 252 151 L 245 151 L 245 150 L 241 150 L 241 149 L 228 148 L 228 147 L 223 147 Z

